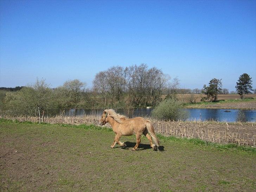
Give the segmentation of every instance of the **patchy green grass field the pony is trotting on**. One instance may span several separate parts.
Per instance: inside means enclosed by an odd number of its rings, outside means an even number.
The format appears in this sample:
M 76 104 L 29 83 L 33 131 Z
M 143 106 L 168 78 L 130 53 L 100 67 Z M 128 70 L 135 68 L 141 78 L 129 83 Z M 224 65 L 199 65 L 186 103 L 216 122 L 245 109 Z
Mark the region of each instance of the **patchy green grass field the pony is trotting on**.
M 256 152 L 161 136 L 161 151 L 142 137 L 95 126 L 0 121 L 0 191 L 255 191 Z

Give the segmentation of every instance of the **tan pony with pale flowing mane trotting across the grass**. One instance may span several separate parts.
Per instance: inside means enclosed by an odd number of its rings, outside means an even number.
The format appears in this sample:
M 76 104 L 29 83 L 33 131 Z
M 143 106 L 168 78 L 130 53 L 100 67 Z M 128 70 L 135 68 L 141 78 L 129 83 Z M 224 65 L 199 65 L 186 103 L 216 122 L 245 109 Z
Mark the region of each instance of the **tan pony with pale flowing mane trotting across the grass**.
M 120 146 L 126 146 L 126 144 L 120 142 L 119 139 L 122 135 L 129 136 L 133 134 L 136 135 L 137 141 L 136 145 L 132 149 L 133 151 L 135 151 L 138 148 L 141 141 L 140 137 L 142 134 L 148 138 L 150 146 L 154 150 L 156 150 L 156 146 L 159 147 L 159 139 L 155 135 L 152 123 L 148 120 L 143 119 L 142 117 L 128 119 L 124 115 L 117 114 L 113 109 L 105 109 L 100 121 L 100 125 L 109 123 L 116 134 L 114 142 L 111 145 L 111 148 L 114 148 L 116 143 L 119 144 Z M 153 145 L 151 137 L 156 146 Z

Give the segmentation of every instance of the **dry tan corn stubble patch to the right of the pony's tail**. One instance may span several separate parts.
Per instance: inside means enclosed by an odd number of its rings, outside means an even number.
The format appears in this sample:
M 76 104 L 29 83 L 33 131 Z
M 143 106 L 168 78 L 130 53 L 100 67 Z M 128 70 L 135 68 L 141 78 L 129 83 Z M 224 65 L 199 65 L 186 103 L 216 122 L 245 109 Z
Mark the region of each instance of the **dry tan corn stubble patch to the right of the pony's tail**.
M 219 122 L 154 122 L 158 133 L 187 138 L 199 138 L 204 141 L 218 143 L 235 143 L 256 147 L 255 123 L 228 124 Z

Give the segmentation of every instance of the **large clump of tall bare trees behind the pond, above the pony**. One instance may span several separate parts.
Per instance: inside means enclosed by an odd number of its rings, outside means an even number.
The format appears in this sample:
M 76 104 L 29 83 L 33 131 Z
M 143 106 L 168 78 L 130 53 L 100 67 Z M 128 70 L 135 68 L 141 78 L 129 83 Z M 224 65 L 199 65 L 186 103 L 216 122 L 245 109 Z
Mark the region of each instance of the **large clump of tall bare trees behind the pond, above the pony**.
M 155 105 L 160 101 L 162 90 L 166 87 L 169 76 L 155 67 L 148 69 L 146 64 L 126 68 L 113 66 L 96 74 L 94 90 L 104 98 L 104 102 L 114 104 L 123 100 L 131 105 Z M 108 101 L 108 98 L 109 101 Z

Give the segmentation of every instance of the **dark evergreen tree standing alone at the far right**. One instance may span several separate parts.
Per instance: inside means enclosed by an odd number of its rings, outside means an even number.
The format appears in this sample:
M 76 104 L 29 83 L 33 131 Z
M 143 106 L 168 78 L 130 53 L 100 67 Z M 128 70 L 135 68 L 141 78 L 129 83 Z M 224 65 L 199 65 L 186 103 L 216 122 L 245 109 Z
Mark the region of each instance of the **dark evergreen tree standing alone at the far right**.
M 238 82 L 236 82 L 236 91 L 239 95 L 241 95 L 242 99 L 244 99 L 245 94 L 251 93 L 251 82 L 251 77 L 247 73 L 243 73 L 242 75 L 240 75 Z

